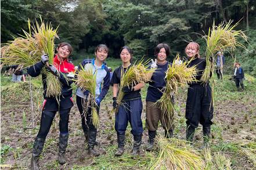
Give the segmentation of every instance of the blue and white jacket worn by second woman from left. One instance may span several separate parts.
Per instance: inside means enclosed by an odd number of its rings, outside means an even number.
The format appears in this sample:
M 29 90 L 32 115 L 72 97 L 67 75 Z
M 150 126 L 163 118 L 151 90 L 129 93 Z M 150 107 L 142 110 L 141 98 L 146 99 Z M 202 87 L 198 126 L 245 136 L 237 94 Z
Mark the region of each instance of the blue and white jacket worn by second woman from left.
M 109 91 L 109 86 L 110 86 L 110 72 L 109 68 L 107 68 L 106 65 L 102 64 L 102 66 L 98 67 L 95 65 L 95 60 L 84 60 L 78 66 L 78 70 L 81 69 L 81 66 L 86 70 L 89 69 L 92 66 L 93 73 L 97 73 L 96 75 L 96 94 L 95 98 L 102 99 L 106 96 L 107 91 Z M 102 83 L 103 83 L 103 88 L 102 88 Z M 79 97 L 86 99 L 86 95 L 89 94 L 89 91 L 82 91 L 81 88 L 77 88 L 77 93 Z

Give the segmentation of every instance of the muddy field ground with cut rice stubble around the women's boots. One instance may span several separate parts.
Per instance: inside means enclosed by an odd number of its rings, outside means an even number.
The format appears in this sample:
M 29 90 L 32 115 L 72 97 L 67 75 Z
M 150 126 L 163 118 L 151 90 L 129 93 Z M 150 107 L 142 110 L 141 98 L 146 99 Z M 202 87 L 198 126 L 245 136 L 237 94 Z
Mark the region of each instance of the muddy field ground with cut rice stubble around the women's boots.
M 10 77 L 9 77 L 10 79 Z M 41 79 L 33 79 L 33 101 L 35 110 L 35 127 L 32 127 L 32 114 L 30 97 L 26 83 L 10 83 L 8 78 L 1 76 L 1 168 L 27 169 L 30 166 L 31 150 L 34 138 L 39 130 L 41 118 L 41 105 L 43 101 Z M 241 146 L 251 146 L 256 142 L 256 82 L 244 82 L 246 90 L 236 91 L 235 82 L 224 76 L 223 82 L 215 80 L 215 111 L 214 125 L 212 125 L 211 153 L 218 152 L 230 159 L 232 169 L 252 169 L 254 162 L 250 161 L 246 153 L 241 154 Z M 6 90 L 7 89 L 7 90 Z M 15 92 L 12 90 L 15 89 Z M 26 93 L 24 92 L 26 91 Z M 179 90 L 175 98 L 175 138 L 185 139 L 185 102 L 186 88 Z M 97 136 L 100 141 L 100 157 L 89 157 L 84 143 L 84 134 L 81 127 L 81 117 L 77 106 L 70 112 L 66 165 L 57 163 L 57 144 L 59 142 L 59 116 L 56 114 L 51 131 L 49 132 L 44 151 L 39 160 L 42 169 L 143 169 L 152 157 L 157 154 L 145 151 L 147 144 L 147 130 L 145 128 L 145 97 L 146 88 L 142 90 L 143 112 L 142 120 L 145 131 L 140 157 L 132 159 L 129 152 L 132 149 L 132 135 L 128 127 L 126 134 L 125 154 L 122 157 L 114 157 L 117 149 L 116 132 L 114 131 L 114 116 L 109 119 L 108 112 L 112 108 L 112 90 L 110 88 L 100 108 L 100 128 Z M 75 99 L 75 97 L 74 97 Z M 26 114 L 26 116 L 24 116 Z M 25 120 L 24 120 L 25 119 Z M 26 129 L 24 122 L 26 121 Z M 158 134 L 164 135 L 163 128 L 159 125 Z M 196 131 L 195 147 L 199 149 L 203 143 L 201 126 Z M 98 148 L 98 147 L 97 147 Z M 156 147 L 157 148 L 157 147 Z M 245 147 L 247 148 L 247 147 Z M 203 154 L 203 150 L 201 151 Z M 255 152 L 254 152 L 255 153 Z

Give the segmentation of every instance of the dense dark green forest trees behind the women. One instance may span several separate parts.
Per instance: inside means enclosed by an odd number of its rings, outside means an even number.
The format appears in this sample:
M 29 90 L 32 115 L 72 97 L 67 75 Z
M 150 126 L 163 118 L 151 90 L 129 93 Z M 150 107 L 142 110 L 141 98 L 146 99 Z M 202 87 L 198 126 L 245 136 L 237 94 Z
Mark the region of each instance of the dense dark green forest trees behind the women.
M 27 20 L 42 19 L 58 28 L 59 42 L 74 47 L 72 59 L 80 62 L 92 58 L 99 43 L 110 48 L 109 57 L 118 58 L 124 45 L 134 50 L 135 58 L 153 57 L 158 43 L 171 46 L 171 57 L 177 52 L 184 56 L 188 42 L 201 45 L 212 23 L 240 21 L 236 29 L 248 36 L 247 51 L 237 49 L 225 56 L 236 57 L 247 73 L 256 75 L 256 0 L 1 0 L 1 45 L 12 36 L 27 30 Z M 227 57 L 226 57 L 227 58 Z M 232 72 L 231 57 L 226 70 Z

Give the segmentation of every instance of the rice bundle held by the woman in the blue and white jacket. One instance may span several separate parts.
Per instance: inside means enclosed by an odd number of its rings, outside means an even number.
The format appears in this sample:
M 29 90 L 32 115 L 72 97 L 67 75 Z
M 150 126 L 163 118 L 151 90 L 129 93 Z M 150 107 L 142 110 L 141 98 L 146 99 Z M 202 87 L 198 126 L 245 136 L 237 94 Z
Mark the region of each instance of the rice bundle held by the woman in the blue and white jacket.
M 82 91 L 89 91 L 89 95 L 87 97 L 87 102 L 84 106 L 84 112 L 91 108 L 92 110 L 92 124 L 98 128 L 99 127 L 99 116 L 96 111 L 96 102 L 95 102 L 95 94 L 96 94 L 96 75 L 97 73 L 93 73 L 92 65 L 84 68 L 82 65 L 80 66 L 80 71 L 75 73 L 76 79 L 74 82 L 78 87 L 81 88 Z

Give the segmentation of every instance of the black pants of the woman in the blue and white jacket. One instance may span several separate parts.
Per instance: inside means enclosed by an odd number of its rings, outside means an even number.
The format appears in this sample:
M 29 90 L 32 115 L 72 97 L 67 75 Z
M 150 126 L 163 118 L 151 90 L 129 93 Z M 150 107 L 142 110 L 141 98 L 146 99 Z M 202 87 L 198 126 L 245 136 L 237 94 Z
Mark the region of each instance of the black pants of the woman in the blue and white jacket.
M 82 128 L 84 131 L 88 131 L 88 128 L 89 130 L 96 131 L 96 127 L 92 124 L 92 109 L 91 107 L 85 109 L 86 102 L 88 102 L 86 99 L 77 96 L 77 107 L 81 114 Z M 96 109 L 99 114 L 99 107 Z

